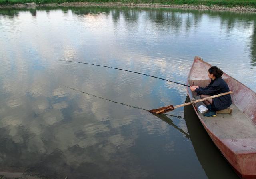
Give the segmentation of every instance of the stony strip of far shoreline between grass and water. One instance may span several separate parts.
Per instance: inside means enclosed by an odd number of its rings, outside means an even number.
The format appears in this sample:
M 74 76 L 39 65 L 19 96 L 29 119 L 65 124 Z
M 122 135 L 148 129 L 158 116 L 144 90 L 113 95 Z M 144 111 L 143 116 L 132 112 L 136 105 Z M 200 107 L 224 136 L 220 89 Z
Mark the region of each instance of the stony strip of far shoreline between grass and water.
M 88 7 L 88 6 L 108 6 L 108 7 L 151 7 L 151 8 L 183 8 L 183 9 L 197 9 L 197 10 L 224 10 L 236 12 L 256 12 L 256 8 L 247 6 L 225 7 L 225 6 L 205 6 L 205 5 L 191 5 L 191 4 L 136 4 L 136 3 L 120 3 L 120 2 L 64 2 L 51 4 L 13 4 L 0 5 L 0 8 L 32 8 L 32 7 Z

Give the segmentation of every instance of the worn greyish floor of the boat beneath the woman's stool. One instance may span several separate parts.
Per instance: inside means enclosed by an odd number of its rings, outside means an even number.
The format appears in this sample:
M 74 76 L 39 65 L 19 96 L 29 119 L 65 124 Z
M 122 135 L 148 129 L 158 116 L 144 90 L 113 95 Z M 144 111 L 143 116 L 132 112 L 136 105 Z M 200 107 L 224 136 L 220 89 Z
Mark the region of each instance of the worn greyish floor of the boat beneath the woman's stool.
M 196 99 L 200 99 L 199 96 Z M 196 103 L 197 106 L 203 105 L 202 102 Z M 204 117 L 198 111 L 201 119 L 206 126 L 220 139 L 244 139 L 256 138 L 256 127 L 234 104 L 232 115 L 217 114 L 216 117 Z

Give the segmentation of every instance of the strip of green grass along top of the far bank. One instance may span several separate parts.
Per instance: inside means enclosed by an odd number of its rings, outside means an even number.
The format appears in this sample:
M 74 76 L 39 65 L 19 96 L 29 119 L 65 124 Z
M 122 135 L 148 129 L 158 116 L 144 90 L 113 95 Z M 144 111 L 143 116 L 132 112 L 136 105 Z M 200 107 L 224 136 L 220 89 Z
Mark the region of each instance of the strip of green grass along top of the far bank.
M 24 4 L 35 2 L 36 4 L 63 3 L 63 2 L 122 2 L 122 3 L 145 3 L 145 4 L 191 4 L 205 6 L 252 6 L 256 8 L 256 0 L 0 0 L 0 5 Z

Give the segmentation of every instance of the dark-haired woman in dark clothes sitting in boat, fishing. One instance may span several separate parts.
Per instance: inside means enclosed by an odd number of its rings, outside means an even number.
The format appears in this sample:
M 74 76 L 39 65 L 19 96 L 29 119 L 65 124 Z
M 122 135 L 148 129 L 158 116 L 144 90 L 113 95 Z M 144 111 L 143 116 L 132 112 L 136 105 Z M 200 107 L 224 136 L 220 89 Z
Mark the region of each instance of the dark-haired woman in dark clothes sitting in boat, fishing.
M 210 84 L 206 87 L 190 86 L 190 90 L 196 91 L 197 95 L 200 95 L 201 98 L 228 92 L 230 90 L 228 88 L 228 84 L 222 79 L 222 74 L 223 72 L 220 68 L 212 66 L 208 69 L 208 76 L 211 79 Z M 205 117 L 216 116 L 216 111 L 226 109 L 232 104 L 230 94 L 213 99 L 207 99 L 203 102 L 209 109 L 208 113 L 204 114 Z

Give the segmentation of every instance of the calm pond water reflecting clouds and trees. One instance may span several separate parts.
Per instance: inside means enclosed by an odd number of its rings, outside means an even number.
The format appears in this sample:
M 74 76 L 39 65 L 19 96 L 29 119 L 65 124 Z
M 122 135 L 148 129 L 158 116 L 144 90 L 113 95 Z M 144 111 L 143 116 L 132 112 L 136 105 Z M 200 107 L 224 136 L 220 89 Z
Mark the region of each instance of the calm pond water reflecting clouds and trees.
M 0 47 L 0 175 L 238 178 L 191 107 L 146 111 L 184 86 L 59 60 L 186 83 L 198 55 L 256 91 L 256 14 L 2 8 Z

